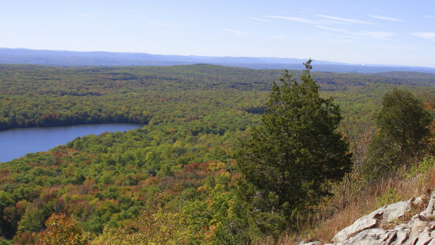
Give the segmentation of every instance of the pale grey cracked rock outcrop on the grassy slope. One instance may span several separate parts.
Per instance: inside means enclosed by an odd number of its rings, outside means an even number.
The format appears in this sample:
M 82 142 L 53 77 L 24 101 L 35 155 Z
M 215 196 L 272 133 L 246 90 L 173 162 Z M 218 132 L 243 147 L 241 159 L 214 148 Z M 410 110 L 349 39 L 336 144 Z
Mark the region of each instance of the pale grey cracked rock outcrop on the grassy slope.
M 385 226 L 380 225 L 397 223 L 409 214 L 412 205 L 422 204 L 422 197 L 386 205 L 359 218 L 338 232 L 330 245 L 435 245 L 435 191 L 429 198 L 427 208 L 412 216 L 406 224 L 397 225 L 392 229 L 383 229 Z

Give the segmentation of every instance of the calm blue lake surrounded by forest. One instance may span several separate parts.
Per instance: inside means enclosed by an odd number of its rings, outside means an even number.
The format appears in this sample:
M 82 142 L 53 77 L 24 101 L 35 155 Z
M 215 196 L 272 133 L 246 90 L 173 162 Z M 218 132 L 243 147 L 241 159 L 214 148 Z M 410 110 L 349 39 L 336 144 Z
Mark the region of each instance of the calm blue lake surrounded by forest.
M 106 131 L 128 131 L 143 126 L 143 124 L 129 123 L 83 124 L 45 128 L 13 128 L 0 131 L 0 162 L 11 161 L 26 153 L 48 151 L 55 148 L 57 144 L 67 144 L 87 134 L 99 135 Z

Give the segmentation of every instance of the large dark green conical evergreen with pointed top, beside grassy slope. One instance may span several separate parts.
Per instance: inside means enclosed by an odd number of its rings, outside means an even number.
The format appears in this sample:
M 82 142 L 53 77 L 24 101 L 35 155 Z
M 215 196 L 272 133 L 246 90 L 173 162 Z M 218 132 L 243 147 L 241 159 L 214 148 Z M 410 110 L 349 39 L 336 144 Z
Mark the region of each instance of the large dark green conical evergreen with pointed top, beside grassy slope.
M 328 195 L 328 184 L 351 167 L 348 143 L 337 127 L 339 107 L 319 97 L 311 60 L 298 83 L 288 71 L 273 83 L 262 124 L 236 153 L 240 195 L 251 234 L 278 235 Z

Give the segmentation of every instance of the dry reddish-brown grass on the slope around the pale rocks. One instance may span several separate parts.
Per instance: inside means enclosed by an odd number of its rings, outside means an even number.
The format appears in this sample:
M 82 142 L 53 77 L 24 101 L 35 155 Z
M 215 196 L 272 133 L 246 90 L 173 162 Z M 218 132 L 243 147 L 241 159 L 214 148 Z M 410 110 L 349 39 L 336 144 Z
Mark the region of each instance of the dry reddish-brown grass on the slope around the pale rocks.
M 358 218 L 380 208 L 382 205 L 379 204 L 377 198 L 381 197 L 388 189 L 391 190 L 391 188 L 402 201 L 425 194 L 428 195 L 435 189 L 435 166 L 425 175 L 415 178 L 391 177 L 372 183 L 370 188 L 351 198 L 350 203 L 345 208 L 337 208 L 332 215 L 318 214 L 318 217 L 321 218 L 314 220 L 313 225 L 307 225 L 308 227 L 303 228 L 300 232 L 284 232 L 278 241 L 274 241 L 272 237 L 265 237 L 261 242 L 255 244 L 286 245 L 298 244 L 301 241 L 329 243 L 341 229 L 353 224 Z M 394 228 L 399 224 L 398 222 L 407 222 L 406 220 L 410 219 L 412 215 L 425 208 L 427 201 L 428 199 L 425 199 L 421 205 L 413 207 L 409 215 L 406 215 L 403 220 L 397 220 L 390 224 L 385 223 L 383 226 L 385 228 Z M 330 203 L 330 205 L 334 205 L 334 203 Z

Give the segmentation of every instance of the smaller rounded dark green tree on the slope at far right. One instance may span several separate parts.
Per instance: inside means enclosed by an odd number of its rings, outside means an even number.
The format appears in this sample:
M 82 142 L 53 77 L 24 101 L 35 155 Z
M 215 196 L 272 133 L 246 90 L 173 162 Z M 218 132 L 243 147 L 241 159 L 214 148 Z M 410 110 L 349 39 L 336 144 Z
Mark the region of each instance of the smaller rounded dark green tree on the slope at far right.
M 385 94 L 376 117 L 378 132 L 370 145 L 370 174 L 376 176 L 391 168 L 406 167 L 413 158 L 418 161 L 431 121 L 423 102 L 408 90 L 395 88 Z

